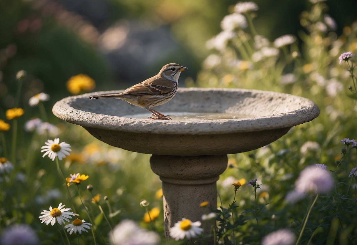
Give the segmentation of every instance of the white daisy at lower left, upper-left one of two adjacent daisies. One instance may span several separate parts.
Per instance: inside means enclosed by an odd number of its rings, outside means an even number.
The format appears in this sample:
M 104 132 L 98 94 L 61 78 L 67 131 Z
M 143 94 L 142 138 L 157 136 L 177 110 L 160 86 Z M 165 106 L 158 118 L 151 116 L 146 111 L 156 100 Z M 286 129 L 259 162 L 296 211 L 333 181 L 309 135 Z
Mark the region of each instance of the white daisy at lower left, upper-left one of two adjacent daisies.
M 50 211 L 44 210 L 41 212 L 41 215 L 39 217 L 40 220 L 42 220 L 41 223 L 46 223 L 46 225 L 50 224 L 54 225 L 57 222 L 62 225 L 65 224 L 65 221 L 69 221 L 68 218 L 72 218 L 70 215 L 74 216 L 74 213 L 68 210 L 71 210 L 71 208 L 66 207 L 63 208 L 66 205 L 62 205 L 62 202 L 58 205 L 58 208 L 52 209 L 52 206 L 50 206 Z

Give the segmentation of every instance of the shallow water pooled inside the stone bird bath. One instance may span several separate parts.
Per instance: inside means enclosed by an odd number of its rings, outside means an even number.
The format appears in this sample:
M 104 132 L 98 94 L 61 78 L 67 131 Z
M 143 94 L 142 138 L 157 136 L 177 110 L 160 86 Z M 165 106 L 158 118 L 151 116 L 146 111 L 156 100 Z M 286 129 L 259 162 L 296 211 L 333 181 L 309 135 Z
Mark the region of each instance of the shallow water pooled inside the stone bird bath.
M 237 113 L 199 113 L 199 112 L 161 112 L 164 115 L 169 115 L 172 120 L 176 121 L 186 121 L 186 120 L 217 120 L 217 119 L 237 119 L 237 118 L 248 118 L 252 116 L 240 115 Z M 137 118 L 137 119 L 147 119 L 151 116 L 148 113 L 125 115 L 123 117 Z

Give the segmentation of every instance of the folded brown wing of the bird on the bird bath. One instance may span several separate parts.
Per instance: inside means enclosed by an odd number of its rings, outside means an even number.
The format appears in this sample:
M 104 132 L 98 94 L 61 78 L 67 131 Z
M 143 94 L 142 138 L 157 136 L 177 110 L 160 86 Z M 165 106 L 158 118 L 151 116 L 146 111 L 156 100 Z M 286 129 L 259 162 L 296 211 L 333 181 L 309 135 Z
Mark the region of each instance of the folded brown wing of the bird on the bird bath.
M 155 81 L 153 82 L 153 80 Z M 126 89 L 123 94 L 167 94 L 173 89 L 174 86 L 176 86 L 175 84 L 175 82 L 167 80 L 164 77 L 151 77 L 143 82 L 140 82 L 139 84 L 129 87 L 129 89 Z

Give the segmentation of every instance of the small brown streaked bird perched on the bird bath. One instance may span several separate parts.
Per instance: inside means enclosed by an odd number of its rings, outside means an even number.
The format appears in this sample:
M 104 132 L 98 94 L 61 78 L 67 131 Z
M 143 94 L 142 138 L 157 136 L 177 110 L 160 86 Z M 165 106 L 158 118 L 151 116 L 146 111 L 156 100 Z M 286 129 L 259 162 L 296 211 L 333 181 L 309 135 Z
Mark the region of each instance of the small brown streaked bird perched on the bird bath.
M 175 96 L 178 89 L 178 77 L 184 70 L 187 70 L 187 68 L 170 63 L 164 65 L 159 74 L 127 88 L 120 94 L 93 95 L 90 96 L 90 99 L 115 98 L 125 100 L 132 105 L 145 108 L 153 116 L 157 116 L 155 118 L 149 116 L 148 119 L 168 120 L 171 119 L 169 116 L 164 116 L 151 107 L 165 104 Z

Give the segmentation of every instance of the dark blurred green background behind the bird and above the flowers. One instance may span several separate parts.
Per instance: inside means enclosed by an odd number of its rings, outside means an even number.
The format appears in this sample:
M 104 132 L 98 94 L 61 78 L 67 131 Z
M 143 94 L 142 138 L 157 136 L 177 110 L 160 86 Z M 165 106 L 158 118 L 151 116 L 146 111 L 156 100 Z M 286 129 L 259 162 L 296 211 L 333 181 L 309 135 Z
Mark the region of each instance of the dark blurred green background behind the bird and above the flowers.
M 124 89 L 157 74 L 169 62 L 189 67 L 181 81 L 196 73 L 210 50 L 206 41 L 220 31 L 235 0 L 0 0 L 0 98 L 2 110 L 14 104 L 18 70 L 32 76 L 23 96 L 51 92 L 69 95 L 66 81 L 84 73 L 96 89 Z M 256 1 L 258 33 L 274 40 L 298 36 L 299 15 L 309 1 Z M 356 20 L 356 1 L 326 4 L 343 26 Z M 295 33 L 294 33 L 295 32 Z M 184 86 L 181 82 L 180 86 Z M 55 94 L 53 92 L 56 91 Z

